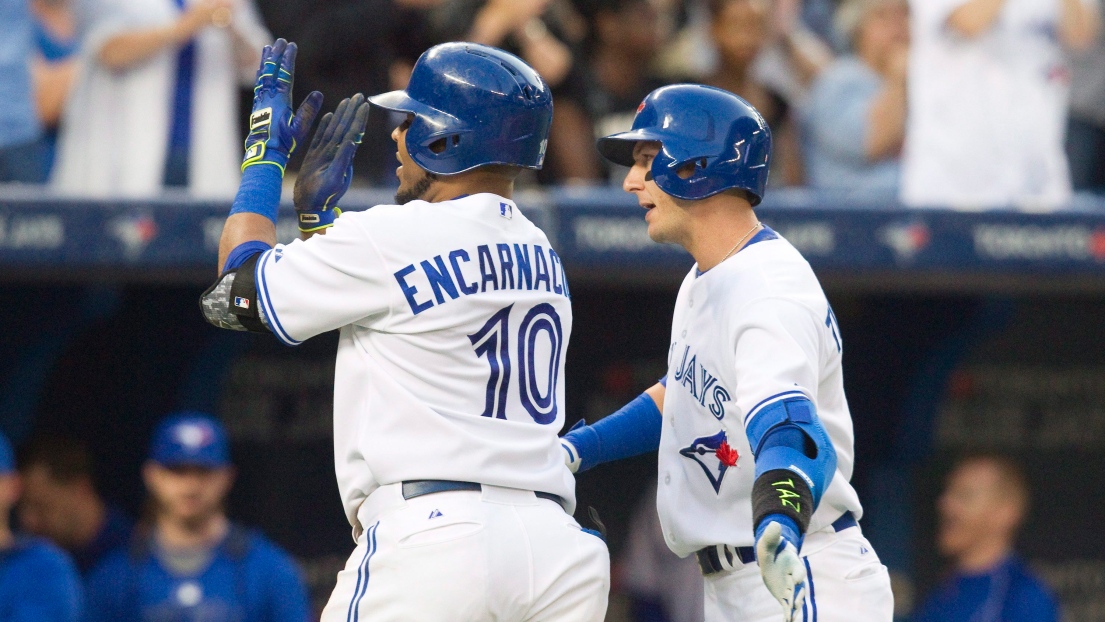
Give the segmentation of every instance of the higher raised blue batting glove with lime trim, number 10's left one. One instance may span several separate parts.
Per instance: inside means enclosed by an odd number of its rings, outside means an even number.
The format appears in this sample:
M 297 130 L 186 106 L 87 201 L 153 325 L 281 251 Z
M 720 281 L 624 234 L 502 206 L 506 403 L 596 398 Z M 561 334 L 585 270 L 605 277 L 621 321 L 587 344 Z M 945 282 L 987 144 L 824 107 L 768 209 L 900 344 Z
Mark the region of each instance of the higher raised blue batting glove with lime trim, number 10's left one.
M 261 52 L 261 67 L 253 87 L 250 134 L 245 137 L 242 170 L 254 165 L 273 165 L 284 175 L 287 159 L 304 140 L 323 105 L 315 91 L 292 114 L 292 81 L 295 74 L 295 43 L 277 39 Z

